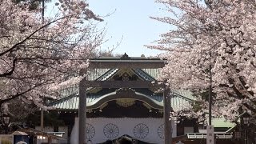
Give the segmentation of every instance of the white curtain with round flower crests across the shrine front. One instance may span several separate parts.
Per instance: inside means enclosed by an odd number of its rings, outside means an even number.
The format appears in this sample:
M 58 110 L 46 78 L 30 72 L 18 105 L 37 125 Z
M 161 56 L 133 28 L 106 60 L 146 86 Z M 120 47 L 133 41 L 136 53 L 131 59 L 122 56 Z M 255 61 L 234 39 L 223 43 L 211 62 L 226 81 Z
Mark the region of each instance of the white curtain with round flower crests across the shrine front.
M 94 130 L 94 133 L 90 133 L 92 137 L 90 140 L 93 143 L 105 142 L 108 139 L 115 139 L 121 137 L 124 134 L 128 134 L 131 137 L 137 138 L 136 135 L 138 134 L 134 134 L 134 127 L 138 124 L 140 124 L 142 127 L 146 126 L 148 128 L 148 133 L 144 131 L 145 133 L 143 133 L 143 136 L 145 136 L 145 138 L 137 139 L 140 139 L 144 142 L 152 142 L 158 144 L 164 143 L 164 139 L 161 138 L 163 129 L 159 129 L 160 126 L 163 126 L 163 118 L 87 118 L 86 122 L 90 124 L 90 126 L 92 126 L 92 130 Z M 112 138 L 107 138 L 106 131 L 104 134 L 104 127 L 110 126 L 108 124 L 113 124 L 111 126 L 116 126 L 118 128 L 118 130 L 116 129 L 118 133 L 108 135 Z M 78 127 L 78 118 L 75 118 L 74 128 L 72 130 L 70 139 L 72 144 L 78 143 Z M 147 130 L 147 128 L 144 130 Z M 176 137 L 177 128 L 174 122 L 172 122 L 172 129 L 173 137 Z

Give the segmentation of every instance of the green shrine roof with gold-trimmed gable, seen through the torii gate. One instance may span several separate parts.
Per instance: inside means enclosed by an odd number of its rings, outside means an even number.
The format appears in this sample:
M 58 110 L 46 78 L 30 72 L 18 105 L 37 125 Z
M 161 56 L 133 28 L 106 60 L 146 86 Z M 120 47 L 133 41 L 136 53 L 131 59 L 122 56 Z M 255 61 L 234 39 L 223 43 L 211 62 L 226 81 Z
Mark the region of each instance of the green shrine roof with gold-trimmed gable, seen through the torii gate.
M 90 62 L 164 62 L 161 58 L 93 58 Z M 127 77 L 129 81 L 149 81 L 156 82 L 160 68 L 91 68 L 87 72 L 87 80 L 89 81 L 122 81 Z M 121 78 L 121 79 L 120 79 Z M 125 92 L 123 89 L 102 89 L 102 88 L 87 88 L 86 106 L 87 109 L 97 109 L 104 102 L 116 100 L 118 98 L 133 98 L 142 102 L 146 102 L 149 106 L 155 109 L 163 108 L 162 93 L 157 93 L 155 90 L 150 89 L 129 89 L 128 94 L 118 94 Z M 50 102 L 50 106 L 58 110 L 78 110 L 78 86 L 70 86 L 62 90 L 62 98 Z M 171 107 L 173 110 L 181 110 L 190 106 L 194 102 L 194 96 L 189 90 L 174 90 L 173 98 L 171 98 Z

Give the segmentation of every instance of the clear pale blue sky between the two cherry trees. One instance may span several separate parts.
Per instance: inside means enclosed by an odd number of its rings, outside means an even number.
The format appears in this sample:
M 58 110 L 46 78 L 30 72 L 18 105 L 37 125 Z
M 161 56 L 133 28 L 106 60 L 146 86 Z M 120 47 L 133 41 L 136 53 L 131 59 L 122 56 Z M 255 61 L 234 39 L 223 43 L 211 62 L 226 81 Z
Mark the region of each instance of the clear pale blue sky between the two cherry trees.
M 107 40 L 100 50 L 113 50 L 114 54 L 128 54 L 130 57 L 156 56 L 160 50 L 151 50 L 145 45 L 154 45 L 160 34 L 171 26 L 158 22 L 153 17 L 168 15 L 162 4 L 154 0 L 88 0 L 90 10 L 102 16 L 104 22 L 99 28 L 106 28 Z M 110 14 L 109 16 L 106 16 Z

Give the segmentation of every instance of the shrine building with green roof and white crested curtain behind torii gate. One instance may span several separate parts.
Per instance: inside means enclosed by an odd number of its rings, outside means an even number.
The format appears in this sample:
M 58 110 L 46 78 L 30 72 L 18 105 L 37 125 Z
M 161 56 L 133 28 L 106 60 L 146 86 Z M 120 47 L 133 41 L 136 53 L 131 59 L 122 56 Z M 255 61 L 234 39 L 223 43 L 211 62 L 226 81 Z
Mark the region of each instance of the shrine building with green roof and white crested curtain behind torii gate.
M 140 68 L 141 64 L 144 68 Z M 90 65 L 86 71 L 86 80 L 103 84 L 85 88 L 86 142 L 102 143 L 129 135 L 143 142 L 164 143 L 163 91 L 161 87 L 150 84 L 146 87 L 135 85 L 140 82 L 158 82 L 165 60 L 130 58 L 125 54 L 122 58 L 92 58 Z M 127 86 L 116 86 L 121 83 Z M 58 117 L 65 122 L 65 126 L 58 126 L 58 131 L 64 131 L 67 142 L 71 144 L 78 143 L 78 87 L 74 85 L 62 90 L 62 98 L 49 105 L 58 110 Z M 170 93 L 170 110 L 182 110 L 194 100 L 188 90 L 173 90 Z M 199 129 L 197 119 L 171 120 L 173 138 L 196 133 Z

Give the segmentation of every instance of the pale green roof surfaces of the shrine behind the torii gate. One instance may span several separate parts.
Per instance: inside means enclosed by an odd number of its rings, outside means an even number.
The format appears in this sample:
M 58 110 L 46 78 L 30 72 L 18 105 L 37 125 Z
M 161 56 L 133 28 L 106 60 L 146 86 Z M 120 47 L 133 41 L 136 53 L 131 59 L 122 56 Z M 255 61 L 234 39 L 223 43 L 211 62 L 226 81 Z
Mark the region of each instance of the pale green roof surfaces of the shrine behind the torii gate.
M 91 59 L 91 61 L 97 62 L 114 62 L 120 58 L 96 58 Z M 162 62 L 160 58 L 133 58 L 133 61 L 138 62 Z M 122 59 L 122 61 L 130 61 L 130 59 Z M 123 69 L 91 69 L 87 74 L 87 79 L 90 81 L 107 81 L 113 78 L 116 74 L 120 73 L 120 70 Z M 135 74 L 142 81 L 151 81 L 154 82 L 160 74 L 159 68 L 150 68 L 150 69 L 129 69 L 130 72 Z M 92 90 L 96 90 L 95 93 L 91 93 Z M 154 90 L 149 89 L 130 89 L 134 90 L 136 98 L 142 98 L 143 102 L 147 102 L 151 107 L 162 109 L 163 99 L 162 94 L 154 93 Z M 63 97 L 55 102 L 51 102 L 50 106 L 55 107 L 59 110 L 78 110 L 78 86 L 70 87 L 67 90 L 62 91 Z M 110 98 L 117 99 L 116 97 L 117 90 L 101 90 L 101 88 L 89 88 L 87 89 L 86 97 L 86 106 L 88 109 L 96 109 L 104 99 L 110 100 Z M 126 98 L 125 96 L 123 98 Z M 107 101 L 106 101 L 107 102 Z M 190 106 L 191 102 L 194 102 L 194 97 L 187 90 L 175 90 L 174 96 L 171 98 L 171 106 L 174 110 L 181 110 L 187 106 Z

